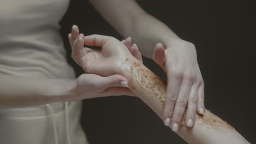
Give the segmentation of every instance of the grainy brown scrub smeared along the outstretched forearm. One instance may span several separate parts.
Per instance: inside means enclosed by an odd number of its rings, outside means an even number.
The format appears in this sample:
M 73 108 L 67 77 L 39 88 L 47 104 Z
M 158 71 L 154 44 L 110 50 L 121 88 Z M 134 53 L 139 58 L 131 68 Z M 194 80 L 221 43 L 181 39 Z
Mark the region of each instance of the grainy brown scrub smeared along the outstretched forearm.
M 140 91 L 147 91 L 152 93 L 151 97 L 158 98 L 162 106 L 164 106 L 166 96 L 166 82 L 161 80 L 148 68 L 142 67 L 141 63 L 132 63 L 131 73 L 131 80 L 135 80 L 139 86 Z M 130 83 L 131 89 L 135 89 L 133 86 L 134 82 L 131 81 Z M 196 114 L 196 123 L 199 125 L 209 125 L 216 129 L 219 127 L 226 127 L 235 130 L 228 123 L 224 122 L 218 116 L 213 115 L 213 113 L 207 110 L 205 115 Z M 185 125 L 185 115 L 182 119 L 181 125 Z

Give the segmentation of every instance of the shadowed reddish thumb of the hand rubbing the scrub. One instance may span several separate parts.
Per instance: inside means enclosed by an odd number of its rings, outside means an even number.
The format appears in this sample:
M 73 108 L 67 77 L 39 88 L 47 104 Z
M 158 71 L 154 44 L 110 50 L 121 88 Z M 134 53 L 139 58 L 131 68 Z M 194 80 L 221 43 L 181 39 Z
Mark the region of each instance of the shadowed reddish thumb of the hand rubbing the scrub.
M 166 71 L 165 67 L 165 48 L 161 43 L 155 45 L 154 53 L 153 53 L 154 61 L 160 65 L 160 67 Z

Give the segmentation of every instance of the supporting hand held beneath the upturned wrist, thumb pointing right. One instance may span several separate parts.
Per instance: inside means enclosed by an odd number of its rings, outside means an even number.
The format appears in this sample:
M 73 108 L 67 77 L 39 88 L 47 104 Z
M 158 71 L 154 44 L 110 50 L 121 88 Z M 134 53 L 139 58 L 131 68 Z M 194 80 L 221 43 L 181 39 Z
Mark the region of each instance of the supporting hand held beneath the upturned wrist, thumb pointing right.
M 111 75 L 107 77 L 95 74 L 83 74 L 75 81 L 72 89 L 71 100 L 107 97 L 109 95 L 135 96 L 128 87 L 128 81 L 124 76 Z

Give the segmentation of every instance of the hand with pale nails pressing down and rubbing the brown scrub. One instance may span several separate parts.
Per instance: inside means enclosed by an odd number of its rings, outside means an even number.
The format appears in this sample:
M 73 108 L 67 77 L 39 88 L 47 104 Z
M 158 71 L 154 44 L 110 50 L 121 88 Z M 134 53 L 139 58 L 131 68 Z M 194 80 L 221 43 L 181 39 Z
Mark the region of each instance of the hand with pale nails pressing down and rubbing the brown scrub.
M 201 114 L 205 111 L 204 83 L 195 46 L 188 41 L 177 40 L 167 45 L 165 50 L 162 44 L 157 44 L 153 59 L 167 74 L 165 125 L 177 131 L 187 108 L 186 125 L 193 127 L 196 111 Z

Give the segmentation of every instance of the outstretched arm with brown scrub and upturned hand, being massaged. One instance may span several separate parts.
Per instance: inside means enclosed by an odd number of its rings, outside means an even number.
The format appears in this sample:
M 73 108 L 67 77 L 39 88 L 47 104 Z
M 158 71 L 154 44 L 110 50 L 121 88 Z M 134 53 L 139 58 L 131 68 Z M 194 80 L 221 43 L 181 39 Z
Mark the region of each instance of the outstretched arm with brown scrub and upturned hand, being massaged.
M 89 49 L 88 46 L 102 46 L 101 51 Z M 135 45 L 136 46 L 136 45 Z M 161 46 L 161 45 L 159 45 Z M 78 50 L 81 51 L 78 51 Z M 85 71 L 98 75 L 118 73 L 129 80 L 129 88 L 139 95 L 149 107 L 160 117 L 166 100 L 166 83 L 147 69 L 119 40 L 104 35 L 79 35 L 73 41 L 73 57 Z M 116 61 L 112 61 L 113 57 Z M 111 68 L 101 65 L 105 61 L 112 61 Z M 176 133 L 188 143 L 249 143 L 234 128 L 219 117 L 206 110 L 203 115 L 196 114 L 193 128 L 184 127 L 185 116 L 182 118 L 181 128 Z

